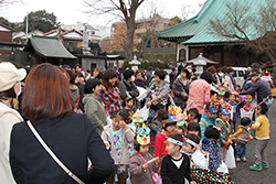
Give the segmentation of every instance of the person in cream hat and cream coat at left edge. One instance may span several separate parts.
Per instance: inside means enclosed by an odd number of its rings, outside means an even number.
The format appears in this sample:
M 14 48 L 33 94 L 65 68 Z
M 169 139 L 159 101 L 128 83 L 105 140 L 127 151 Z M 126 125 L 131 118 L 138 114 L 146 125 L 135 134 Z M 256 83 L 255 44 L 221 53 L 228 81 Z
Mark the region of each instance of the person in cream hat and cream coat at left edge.
M 8 62 L 0 63 L 0 178 L 1 183 L 15 183 L 9 163 L 10 134 L 14 123 L 23 121 L 20 113 L 12 109 L 12 99 L 21 91 L 22 80 L 26 75 L 25 69 Z

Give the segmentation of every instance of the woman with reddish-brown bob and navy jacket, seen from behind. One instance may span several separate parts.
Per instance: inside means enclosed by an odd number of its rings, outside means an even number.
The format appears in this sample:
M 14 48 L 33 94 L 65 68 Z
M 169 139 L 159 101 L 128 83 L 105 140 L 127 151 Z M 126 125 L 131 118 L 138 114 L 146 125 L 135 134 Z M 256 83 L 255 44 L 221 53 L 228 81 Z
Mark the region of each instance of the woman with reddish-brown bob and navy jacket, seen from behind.
M 63 72 L 47 63 L 35 66 L 22 97 L 29 121 L 14 125 L 11 132 L 10 165 L 17 183 L 102 184 L 109 177 L 109 152 L 87 116 L 74 109 Z

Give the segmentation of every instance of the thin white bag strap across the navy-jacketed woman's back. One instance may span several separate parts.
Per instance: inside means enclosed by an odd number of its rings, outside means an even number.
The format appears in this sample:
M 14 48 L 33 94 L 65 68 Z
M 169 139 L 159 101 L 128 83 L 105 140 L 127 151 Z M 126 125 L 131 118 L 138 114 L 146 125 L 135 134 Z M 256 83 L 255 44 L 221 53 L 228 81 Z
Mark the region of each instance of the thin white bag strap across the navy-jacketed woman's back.
M 41 145 L 46 150 L 46 152 L 53 158 L 53 160 L 68 174 L 70 177 L 72 177 L 74 181 L 76 181 L 78 184 L 85 184 L 83 181 L 81 181 L 74 173 L 72 173 L 61 161 L 60 159 L 52 152 L 52 150 L 47 147 L 47 144 L 43 141 L 43 139 L 40 137 L 38 131 L 32 126 L 31 121 L 26 121 L 28 127 L 31 129 L 35 138 L 39 140 Z

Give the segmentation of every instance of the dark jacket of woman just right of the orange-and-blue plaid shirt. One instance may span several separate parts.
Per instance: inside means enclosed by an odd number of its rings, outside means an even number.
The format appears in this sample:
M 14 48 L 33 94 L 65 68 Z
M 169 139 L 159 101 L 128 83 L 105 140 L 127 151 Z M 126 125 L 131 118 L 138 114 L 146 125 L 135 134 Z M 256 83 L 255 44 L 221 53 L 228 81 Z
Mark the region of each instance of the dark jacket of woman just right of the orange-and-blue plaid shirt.
M 123 79 L 118 88 L 120 91 L 121 99 L 125 99 L 127 97 L 127 91 L 132 98 L 136 98 L 139 96 L 139 90 L 137 89 L 134 82 L 128 83 L 127 80 Z

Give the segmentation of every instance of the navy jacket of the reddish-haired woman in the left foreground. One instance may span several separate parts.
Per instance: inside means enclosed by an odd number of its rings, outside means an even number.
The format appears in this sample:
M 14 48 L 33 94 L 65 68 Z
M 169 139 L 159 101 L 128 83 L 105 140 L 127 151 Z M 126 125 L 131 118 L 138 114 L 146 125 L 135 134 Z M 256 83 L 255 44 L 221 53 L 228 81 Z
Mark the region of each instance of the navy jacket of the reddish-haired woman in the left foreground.
M 86 184 L 103 184 L 113 173 L 113 159 L 86 115 L 73 112 L 32 125 L 63 164 Z M 94 166 L 89 171 L 87 159 Z M 25 121 L 13 126 L 10 164 L 19 184 L 76 183 L 49 155 Z

